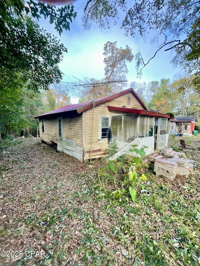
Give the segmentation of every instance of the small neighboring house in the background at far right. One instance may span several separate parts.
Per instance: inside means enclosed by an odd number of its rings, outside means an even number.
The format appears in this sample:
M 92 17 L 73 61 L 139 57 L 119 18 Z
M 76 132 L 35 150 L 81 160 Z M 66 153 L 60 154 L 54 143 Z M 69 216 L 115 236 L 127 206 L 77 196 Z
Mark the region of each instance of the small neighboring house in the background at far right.
M 175 116 L 170 120 L 169 134 L 181 133 L 183 136 L 191 136 L 194 130 L 196 116 Z

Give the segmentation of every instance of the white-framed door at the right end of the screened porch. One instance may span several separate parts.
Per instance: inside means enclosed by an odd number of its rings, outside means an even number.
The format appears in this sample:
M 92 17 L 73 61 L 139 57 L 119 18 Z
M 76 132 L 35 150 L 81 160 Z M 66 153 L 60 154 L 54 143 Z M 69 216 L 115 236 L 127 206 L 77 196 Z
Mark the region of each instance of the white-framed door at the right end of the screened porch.
M 158 118 L 157 149 L 163 149 L 166 146 L 167 124 L 167 118 Z

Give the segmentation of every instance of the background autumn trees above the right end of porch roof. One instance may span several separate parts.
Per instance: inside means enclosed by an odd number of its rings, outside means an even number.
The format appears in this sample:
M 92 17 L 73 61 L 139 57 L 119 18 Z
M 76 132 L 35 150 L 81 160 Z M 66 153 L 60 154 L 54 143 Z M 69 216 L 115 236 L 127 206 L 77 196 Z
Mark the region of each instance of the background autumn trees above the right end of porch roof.
M 173 82 L 169 79 L 149 83 L 132 82 L 130 87 L 134 88 L 152 111 L 173 113 L 176 116 L 199 116 L 200 94 L 191 80 L 191 76 L 179 74 Z M 180 90 L 183 84 L 184 90 Z

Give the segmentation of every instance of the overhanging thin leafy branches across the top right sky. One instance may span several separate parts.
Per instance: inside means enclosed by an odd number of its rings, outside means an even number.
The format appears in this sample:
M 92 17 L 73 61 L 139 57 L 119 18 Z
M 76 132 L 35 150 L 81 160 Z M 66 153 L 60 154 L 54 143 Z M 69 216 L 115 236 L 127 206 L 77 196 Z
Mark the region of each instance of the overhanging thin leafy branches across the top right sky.
M 125 0 L 88 0 L 82 18 L 83 25 L 89 28 L 91 22 L 97 22 L 100 27 L 109 27 L 110 18 L 116 24 L 121 9 L 120 16 L 124 12 L 121 27 L 126 34 L 134 36 L 136 31 L 142 37 L 149 34 L 153 36 L 151 42 L 158 44 L 158 51 L 164 49 L 163 47 L 166 50 L 174 49 L 177 57 L 173 63 L 187 68 L 189 74 L 195 72 L 194 82 L 197 90 L 200 90 L 199 1 L 135 0 L 133 6 L 128 5 Z M 135 59 L 138 76 L 141 76 L 143 67 L 149 61 L 143 61 L 140 51 Z

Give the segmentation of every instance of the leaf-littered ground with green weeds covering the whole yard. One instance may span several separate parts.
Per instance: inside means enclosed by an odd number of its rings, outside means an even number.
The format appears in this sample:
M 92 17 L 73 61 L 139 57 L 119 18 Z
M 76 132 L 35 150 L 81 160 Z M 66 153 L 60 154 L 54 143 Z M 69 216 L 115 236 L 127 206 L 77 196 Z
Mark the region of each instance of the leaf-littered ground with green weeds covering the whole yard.
M 2 143 L 0 265 L 199 265 L 200 136 L 184 139 L 176 146 L 193 174 L 169 181 L 146 169 L 151 194 L 135 202 L 102 189 L 99 159 L 83 164 L 36 138 Z

